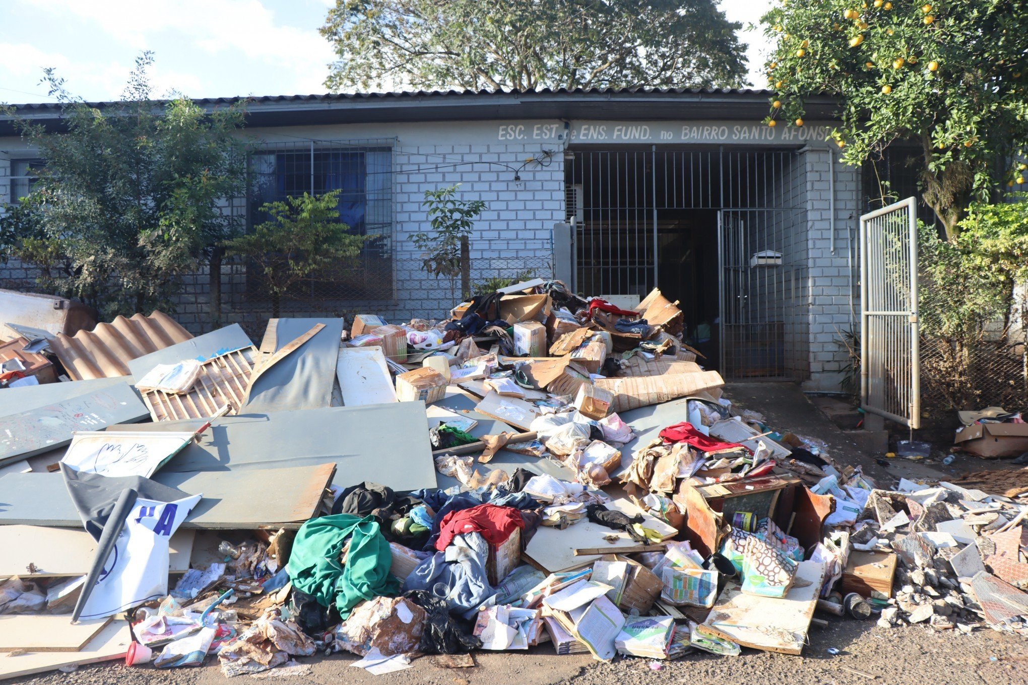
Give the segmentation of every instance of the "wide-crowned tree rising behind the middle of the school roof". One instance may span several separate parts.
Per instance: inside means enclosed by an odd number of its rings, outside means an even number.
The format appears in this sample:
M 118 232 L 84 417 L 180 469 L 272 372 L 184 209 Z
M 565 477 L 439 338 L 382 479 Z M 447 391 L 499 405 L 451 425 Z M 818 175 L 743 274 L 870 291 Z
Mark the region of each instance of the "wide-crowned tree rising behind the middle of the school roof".
M 381 88 L 737 86 L 738 24 L 712 0 L 336 0 L 325 84 Z

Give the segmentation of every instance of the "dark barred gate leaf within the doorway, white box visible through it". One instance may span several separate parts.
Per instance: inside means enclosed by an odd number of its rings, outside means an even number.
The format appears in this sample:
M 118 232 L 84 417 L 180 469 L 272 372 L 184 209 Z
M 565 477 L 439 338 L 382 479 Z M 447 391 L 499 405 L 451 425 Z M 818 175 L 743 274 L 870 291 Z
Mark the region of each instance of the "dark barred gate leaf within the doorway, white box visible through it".
M 722 210 L 721 373 L 799 380 L 808 370 L 810 289 L 802 210 Z

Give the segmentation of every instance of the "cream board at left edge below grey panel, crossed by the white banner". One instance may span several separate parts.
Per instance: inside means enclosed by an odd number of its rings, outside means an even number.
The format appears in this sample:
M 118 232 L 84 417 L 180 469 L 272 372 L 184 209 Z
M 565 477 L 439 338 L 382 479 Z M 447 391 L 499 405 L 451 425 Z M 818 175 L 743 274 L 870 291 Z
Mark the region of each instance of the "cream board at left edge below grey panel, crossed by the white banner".
M 179 529 L 169 540 L 172 573 L 189 569 L 193 530 Z M 42 526 L 0 526 L 0 578 L 47 578 L 85 575 L 97 542 L 84 530 Z

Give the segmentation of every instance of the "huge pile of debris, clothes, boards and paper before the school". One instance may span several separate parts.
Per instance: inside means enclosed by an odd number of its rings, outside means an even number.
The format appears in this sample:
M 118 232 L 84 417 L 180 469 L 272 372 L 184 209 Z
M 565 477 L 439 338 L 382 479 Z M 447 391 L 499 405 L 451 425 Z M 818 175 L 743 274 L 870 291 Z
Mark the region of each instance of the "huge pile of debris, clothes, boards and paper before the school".
M 344 324 L 7 325 L 0 678 L 800 654 L 815 609 L 1025 631 L 1023 502 L 882 490 L 734 407 L 659 291 Z

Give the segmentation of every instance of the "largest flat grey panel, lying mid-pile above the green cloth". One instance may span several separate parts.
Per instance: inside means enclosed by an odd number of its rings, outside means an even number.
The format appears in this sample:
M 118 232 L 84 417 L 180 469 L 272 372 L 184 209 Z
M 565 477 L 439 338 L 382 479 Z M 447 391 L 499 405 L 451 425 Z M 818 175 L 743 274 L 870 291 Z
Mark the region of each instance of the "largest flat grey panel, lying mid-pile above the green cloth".
M 343 488 L 364 481 L 397 492 L 434 488 L 428 421 L 423 402 L 223 416 L 159 472 L 334 463 L 333 482 Z M 201 423 L 160 421 L 133 429 L 194 430 Z

